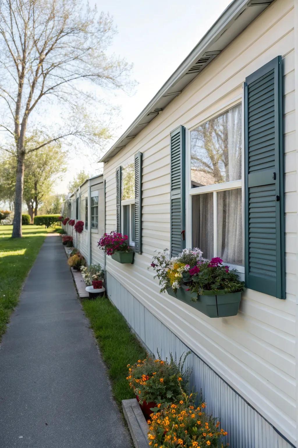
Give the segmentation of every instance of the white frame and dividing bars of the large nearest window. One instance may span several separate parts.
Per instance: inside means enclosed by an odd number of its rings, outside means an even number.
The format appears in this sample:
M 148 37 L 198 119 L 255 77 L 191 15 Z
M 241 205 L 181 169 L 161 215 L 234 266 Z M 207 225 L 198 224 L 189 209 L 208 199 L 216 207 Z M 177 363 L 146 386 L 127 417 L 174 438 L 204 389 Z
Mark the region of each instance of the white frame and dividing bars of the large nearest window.
M 242 155 L 241 155 L 241 180 L 238 181 L 229 181 L 221 184 L 213 184 L 213 185 L 205 185 L 201 187 L 192 188 L 191 187 L 191 146 L 190 146 L 190 133 L 198 126 L 210 121 L 217 116 L 222 115 L 227 112 L 229 109 L 241 104 L 241 141 L 242 141 Z M 192 248 L 193 241 L 193 226 L 192 226 L 192 197 L 195 194 L 203 194 L 203 193 L 213 193 L 213 210 L 214 210 L 214 221 L 213 221 L 213 232 L 214 232 L 214 257 L 217 255 L 217 193 L 219 191 L 225 190 L 235 190 L 237 188 L 241 188 L 242 194 L 242 232 L 243 232 L 243 266 L 236 265 L 232 263 L 227 263 L 231 269 L 236 269 L 237 272 L 241 274 L 241 279 L 243 277 L 244 280 L 244 89 L 242 90 L 242 94 L 235 97 L 232 101 L 226 103 L 222 106 L 220 110 L 213 112 L 210 116 L 204 118 L 204 120 L 197 122 L 195 125 L 186 129 L 185 132 L 185 230 L 186 230 L 186 247 Z

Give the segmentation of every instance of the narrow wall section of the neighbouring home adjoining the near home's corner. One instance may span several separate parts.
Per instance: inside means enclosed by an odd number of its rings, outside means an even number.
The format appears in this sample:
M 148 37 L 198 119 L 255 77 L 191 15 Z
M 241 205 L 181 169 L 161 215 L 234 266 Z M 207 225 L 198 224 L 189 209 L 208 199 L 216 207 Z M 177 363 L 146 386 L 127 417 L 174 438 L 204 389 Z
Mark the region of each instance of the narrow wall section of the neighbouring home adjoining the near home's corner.
M 100 184 L 92 185 L 91 192 L 98 191 L 98 229 L 91 230 L 91 263 L 100 264 L 104 267 L 104 252 L 97 246 L 98 241 L 105 233 L 105 197 L 104 186 Z

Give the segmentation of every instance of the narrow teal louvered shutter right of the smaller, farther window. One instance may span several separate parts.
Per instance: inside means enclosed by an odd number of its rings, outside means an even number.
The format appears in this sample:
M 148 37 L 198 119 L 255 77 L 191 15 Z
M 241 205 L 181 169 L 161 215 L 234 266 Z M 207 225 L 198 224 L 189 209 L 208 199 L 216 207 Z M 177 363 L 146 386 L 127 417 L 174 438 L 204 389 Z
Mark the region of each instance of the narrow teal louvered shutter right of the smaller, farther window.
M 142 252 L 142 153 L 134 156 L 134 251 Z

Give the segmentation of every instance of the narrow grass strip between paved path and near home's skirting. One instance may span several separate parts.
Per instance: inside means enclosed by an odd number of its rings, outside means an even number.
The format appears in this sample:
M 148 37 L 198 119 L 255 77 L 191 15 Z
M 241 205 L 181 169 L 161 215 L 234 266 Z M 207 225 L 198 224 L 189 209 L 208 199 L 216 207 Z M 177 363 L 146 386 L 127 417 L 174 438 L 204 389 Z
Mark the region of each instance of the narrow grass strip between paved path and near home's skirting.
M 96 300 L 84 300 L 82 303 L 101 349 L 102 358 L 108 366 L 113 395 L 118 405 L 121 405 L 122 400 L 135 397 L 126 379 L 127 364 L 144 359 L 146 351 L 108 298 L 98 297 Z

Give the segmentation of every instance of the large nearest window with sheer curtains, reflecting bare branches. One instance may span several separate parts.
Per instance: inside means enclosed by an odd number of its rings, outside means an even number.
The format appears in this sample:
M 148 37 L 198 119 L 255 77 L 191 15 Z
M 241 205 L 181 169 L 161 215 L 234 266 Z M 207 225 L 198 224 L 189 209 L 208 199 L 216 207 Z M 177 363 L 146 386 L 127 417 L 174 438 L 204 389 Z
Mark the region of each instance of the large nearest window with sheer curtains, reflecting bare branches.
M 241 124 L 238 104 L 190 132 L 192 247 L 235 266 L 243 266 Z

